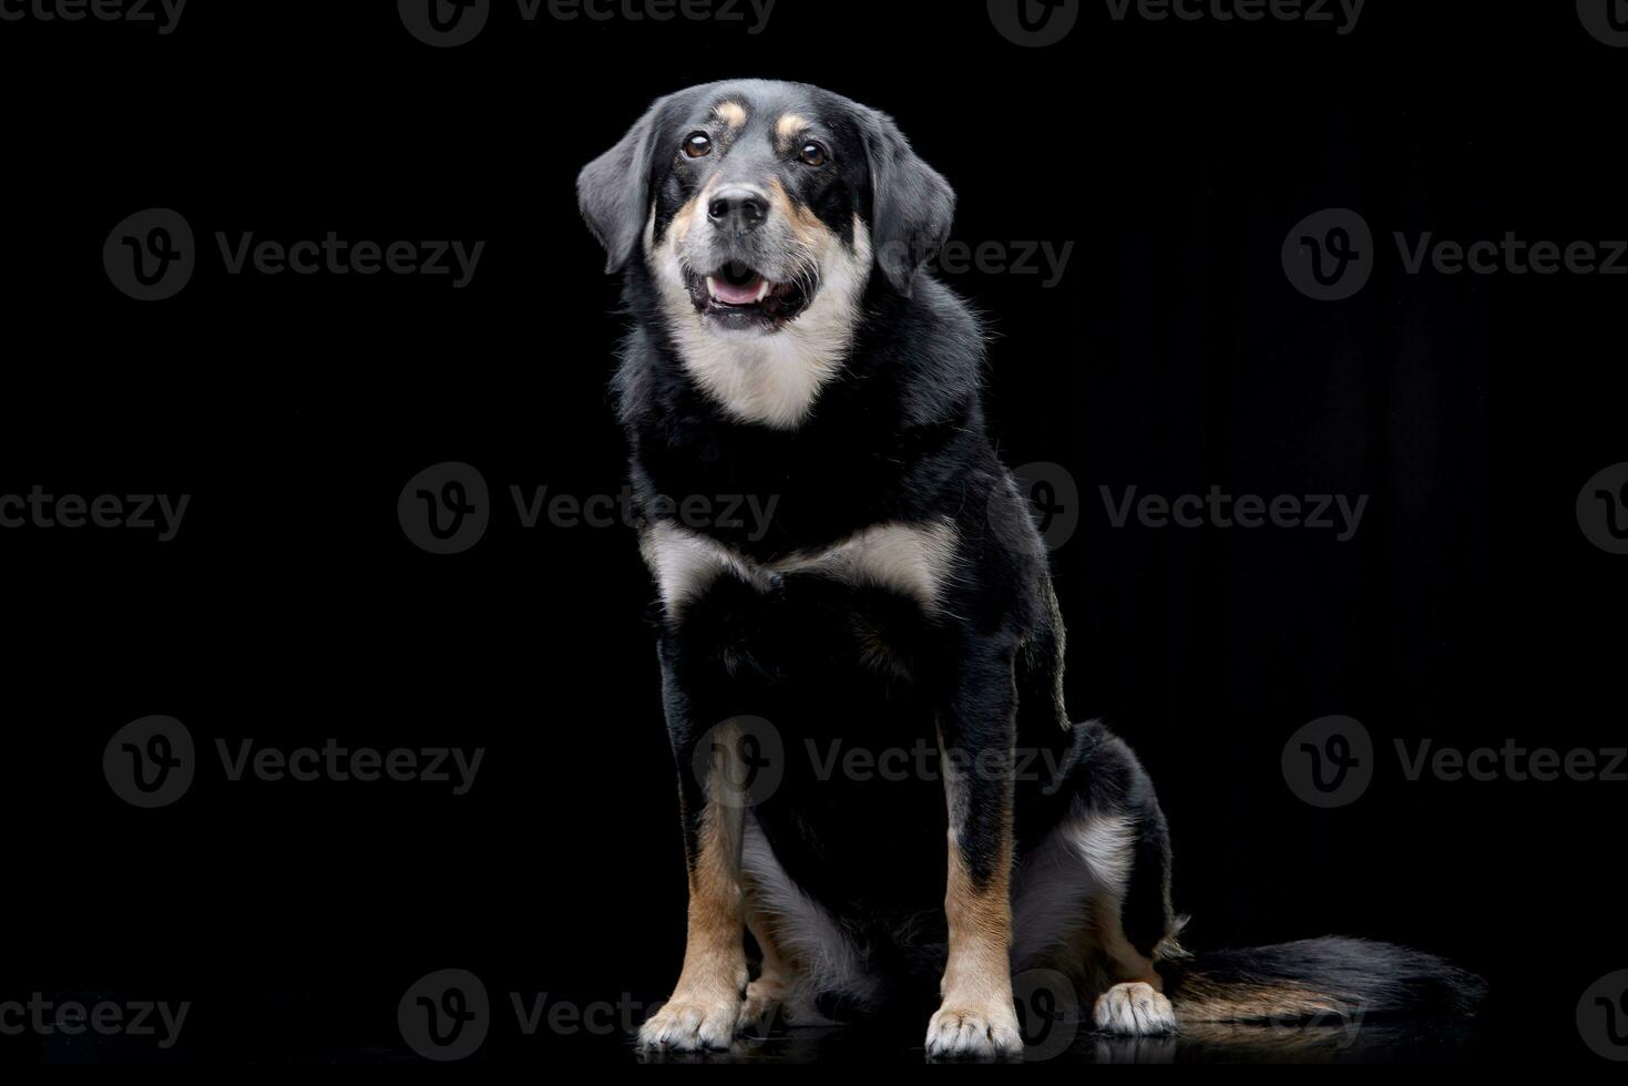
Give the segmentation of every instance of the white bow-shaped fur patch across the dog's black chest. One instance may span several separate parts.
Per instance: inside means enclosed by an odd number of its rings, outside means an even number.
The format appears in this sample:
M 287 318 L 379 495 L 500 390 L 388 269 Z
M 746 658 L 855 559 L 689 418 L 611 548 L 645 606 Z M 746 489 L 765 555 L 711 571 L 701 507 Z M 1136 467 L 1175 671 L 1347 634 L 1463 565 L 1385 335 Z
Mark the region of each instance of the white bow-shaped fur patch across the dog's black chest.
M 915 599 L 923 611 L 938 611 L 952 576 L 956 528 L 949 521 L 876 524 L 832 547 L 759 563 L 711 536 L 661 521 L 645 531 L 640 550 L 669 615 L 681 614 L 720 576 L 768 591 L 778 576 L 793 573 L 886 588 Z

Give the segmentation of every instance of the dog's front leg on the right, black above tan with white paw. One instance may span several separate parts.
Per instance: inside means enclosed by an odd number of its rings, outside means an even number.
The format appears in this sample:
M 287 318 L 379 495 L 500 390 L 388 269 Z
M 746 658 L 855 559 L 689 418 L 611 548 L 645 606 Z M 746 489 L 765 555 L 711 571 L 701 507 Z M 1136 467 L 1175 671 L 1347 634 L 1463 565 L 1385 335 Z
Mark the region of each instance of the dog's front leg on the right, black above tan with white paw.
M 1011 1058 L 1022 1036 L 1011 985 L 1013 658 L 974 651 L 939 713 L 949 803 L 949 961 L 926 1029 L 933 1058 Z

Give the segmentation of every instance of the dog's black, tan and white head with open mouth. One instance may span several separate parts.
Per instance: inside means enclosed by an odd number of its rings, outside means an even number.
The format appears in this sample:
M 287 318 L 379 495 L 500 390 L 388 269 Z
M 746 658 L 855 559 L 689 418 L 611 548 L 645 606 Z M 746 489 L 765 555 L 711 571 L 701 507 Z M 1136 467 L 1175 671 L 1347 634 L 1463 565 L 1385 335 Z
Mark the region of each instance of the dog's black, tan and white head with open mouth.
M 956 204 L 884 114 L 762 80 L 659 99 L 576 186 L 607 270 L 643 261 L 685 365 L 760 422 L 806 412 L 873 272 L 910 295 Z

